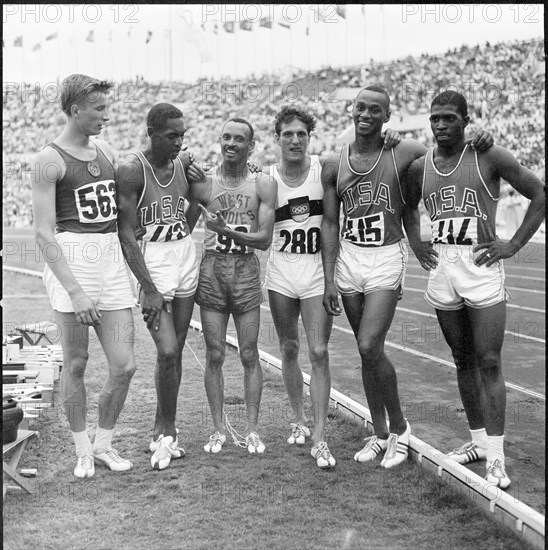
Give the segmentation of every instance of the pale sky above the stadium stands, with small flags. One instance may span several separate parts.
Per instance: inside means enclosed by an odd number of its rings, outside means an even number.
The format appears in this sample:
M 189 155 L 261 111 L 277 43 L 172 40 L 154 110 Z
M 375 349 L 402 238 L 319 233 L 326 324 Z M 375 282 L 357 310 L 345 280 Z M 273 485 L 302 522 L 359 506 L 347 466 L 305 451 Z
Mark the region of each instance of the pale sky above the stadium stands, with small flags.
M 4 4 L 3 81 L 249 78 L 543 36 L 542 4 Z

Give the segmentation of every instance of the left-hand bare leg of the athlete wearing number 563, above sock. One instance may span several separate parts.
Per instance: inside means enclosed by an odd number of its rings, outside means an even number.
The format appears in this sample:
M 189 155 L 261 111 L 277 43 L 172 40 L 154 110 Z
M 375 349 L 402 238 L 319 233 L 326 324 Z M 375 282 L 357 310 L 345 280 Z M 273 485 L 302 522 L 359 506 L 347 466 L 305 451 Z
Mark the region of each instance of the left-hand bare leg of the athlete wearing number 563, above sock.
M 54 311 L 61 328 L 63 369 L 61 371 L 61 400 L 73 433 L 86 431 L 87 396 L 84 373 L 88 361 L 89 328 L 76 320 L 74 313 Z

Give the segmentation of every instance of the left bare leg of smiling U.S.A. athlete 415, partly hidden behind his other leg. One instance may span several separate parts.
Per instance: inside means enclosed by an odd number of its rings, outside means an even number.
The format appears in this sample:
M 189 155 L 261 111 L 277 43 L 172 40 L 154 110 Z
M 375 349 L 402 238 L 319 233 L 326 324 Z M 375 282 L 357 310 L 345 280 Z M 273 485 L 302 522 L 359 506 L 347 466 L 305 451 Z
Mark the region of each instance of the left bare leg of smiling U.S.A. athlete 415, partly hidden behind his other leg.
M 359 346 L 360 326 L 364 313 L 365 297 L 363 294 L 343 295 L 342 301 L 344 311 L 348 317 L 348 321 L 354 331 L 354 336 L 356 337 L 356 342 Z M 361 359 L 361 362 L 363 388 L 365 390 L 367 404 L 369 405 L 369 411 L 371 412 L 371 419 L 375 434 L 380 439 L 388 439 L 389 430 L 386 424 L 384 401 L 382 395 L 375 389 L 379 384 L 376 373 L 374 370 L 366 367 L 363 358 Z

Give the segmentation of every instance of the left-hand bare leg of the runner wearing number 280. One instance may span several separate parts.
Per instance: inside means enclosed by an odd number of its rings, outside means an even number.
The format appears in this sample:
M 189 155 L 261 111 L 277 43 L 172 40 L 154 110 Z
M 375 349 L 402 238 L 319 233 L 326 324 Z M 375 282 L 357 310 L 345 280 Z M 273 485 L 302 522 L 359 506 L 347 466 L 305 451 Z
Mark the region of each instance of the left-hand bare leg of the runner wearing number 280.
M 289 404 L 295 414 L 294 422 L 306 426 L 308 420 L 303 405 L 303 374 L 298 362 L 300 303 L 297 298 L 284 296 L 274 290 L 268 291 L 268 299 L 280 342 L 282 377 L 289 397 Z

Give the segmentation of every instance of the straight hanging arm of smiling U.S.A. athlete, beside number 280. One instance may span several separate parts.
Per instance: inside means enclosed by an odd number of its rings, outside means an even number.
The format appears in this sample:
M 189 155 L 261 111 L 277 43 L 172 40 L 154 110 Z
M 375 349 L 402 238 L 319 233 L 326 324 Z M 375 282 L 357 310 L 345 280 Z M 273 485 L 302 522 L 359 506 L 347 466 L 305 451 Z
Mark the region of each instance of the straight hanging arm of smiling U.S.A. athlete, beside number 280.
M 339 213 L 341 201 L 337 195 L 337 173 L 340 155 L 331 155 L 322 168 L 323 219 L 321 229 L 322 263 L 325 279 L 323 305 L 328 315 L 340 315 L 335 262 L 339 255 Z

